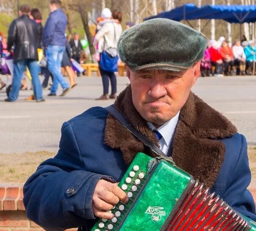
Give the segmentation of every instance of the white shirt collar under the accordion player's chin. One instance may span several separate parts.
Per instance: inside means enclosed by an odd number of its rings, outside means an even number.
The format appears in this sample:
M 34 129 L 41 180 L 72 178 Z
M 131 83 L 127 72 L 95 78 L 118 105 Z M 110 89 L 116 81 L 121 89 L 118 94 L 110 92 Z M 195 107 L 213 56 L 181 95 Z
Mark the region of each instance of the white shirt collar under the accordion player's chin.
M 156 128 L 152 123 L 147 122 L 147 125 L 151 130 L 158 130 L 159 133 L 162 135 L 162 139 L 164 139 L 164 142 L 166 146 L 170 145 L 171 139 L 173 137 L 173 133 L 175 131 L 176 125 L 178 123 L 178 118 L 180 115 L 180 111 L 173 117 L 171 120 L 167 121 L 165 124 L 161 125 L 161 127 Z

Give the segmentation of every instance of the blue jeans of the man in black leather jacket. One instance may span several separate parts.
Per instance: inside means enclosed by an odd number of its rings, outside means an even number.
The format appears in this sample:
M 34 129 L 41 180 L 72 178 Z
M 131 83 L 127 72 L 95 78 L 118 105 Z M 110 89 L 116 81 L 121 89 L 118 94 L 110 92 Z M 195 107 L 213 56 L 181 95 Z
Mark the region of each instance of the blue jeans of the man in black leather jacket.
M 11 86 L 11 91 L 9 93 L 9 100 L 16 101 L 19 96 L 20 90 L 20 82 L 23 76 L 24 71 L 26 70 L 26 66 L 32 76 L 32 85 L 34 91 L 34 97 L 36 100 L 42 99 L 42 86 L 39 80 L 39 65 L 36 60 L 25 59 L 18 60 L 14 63 L 14 73 L 13 73 L 13 81 Z

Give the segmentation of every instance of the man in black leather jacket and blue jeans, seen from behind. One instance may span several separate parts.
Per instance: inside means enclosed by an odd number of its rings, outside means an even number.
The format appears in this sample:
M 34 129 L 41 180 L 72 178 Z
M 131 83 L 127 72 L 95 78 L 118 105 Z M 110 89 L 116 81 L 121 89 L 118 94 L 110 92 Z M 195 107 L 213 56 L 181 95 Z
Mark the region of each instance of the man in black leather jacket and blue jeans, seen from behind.
M 14 48 L 14 76 L 11 91 L 8 94 L 6 102 L 16 101 L 19 96 L 20 82 L 25 67 L 32 76 L 34 97 L 36 102 L 45 101 L 42 97 L 42 86 L 39 81 L 38 61 L 38 36 L 39 30 L 36 22 L 29 18 L 29 5 L 21 5 L 19 8 L 19 17 L 11 22 L 8 30 L 7 49 L 10 52 Z

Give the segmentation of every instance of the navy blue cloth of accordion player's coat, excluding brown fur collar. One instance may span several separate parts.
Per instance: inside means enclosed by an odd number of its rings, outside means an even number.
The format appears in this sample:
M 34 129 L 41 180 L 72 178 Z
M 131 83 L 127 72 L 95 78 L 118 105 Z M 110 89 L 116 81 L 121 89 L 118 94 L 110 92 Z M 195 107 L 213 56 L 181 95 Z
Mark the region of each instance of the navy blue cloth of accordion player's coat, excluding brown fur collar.
M 119 182 L 128 168 L 120 149 L 104 142 L 107 115 L 106 109 L 94 107 L 64 122 L 58 154 L 43 162 L 25 183 L 27 217 L 46 230 L 83 226 L 89 231 L 95 223 L 92 196 L 98 180 L 112 177 Z M 236 133 L 221 141 L 225 160 L 211 191 L 256 220 L 253 197 L 246 190 L 251 174 L 245 137 Z

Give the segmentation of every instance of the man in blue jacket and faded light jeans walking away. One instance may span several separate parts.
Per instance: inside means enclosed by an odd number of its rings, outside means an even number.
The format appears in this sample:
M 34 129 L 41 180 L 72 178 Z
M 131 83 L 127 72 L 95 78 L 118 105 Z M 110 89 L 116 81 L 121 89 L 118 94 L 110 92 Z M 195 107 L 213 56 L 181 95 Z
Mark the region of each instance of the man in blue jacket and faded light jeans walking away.
M 47 59 L 49 71 L 53 74 L 53 86 L 48 96 L 55 96 L 58 90 L 58 83 L 61 84 L 64 96 L 70 90 L 69 84 L 61 74 L 61 60 L 66 48 L 65 30 L 67 17 L 61 10 L 60 0 L 50 1 L 50 16 L 48 17 L 43 31 L 43 46 Z

